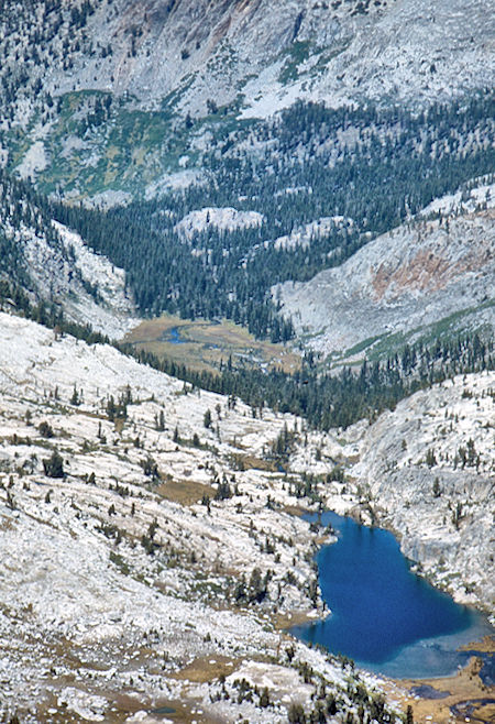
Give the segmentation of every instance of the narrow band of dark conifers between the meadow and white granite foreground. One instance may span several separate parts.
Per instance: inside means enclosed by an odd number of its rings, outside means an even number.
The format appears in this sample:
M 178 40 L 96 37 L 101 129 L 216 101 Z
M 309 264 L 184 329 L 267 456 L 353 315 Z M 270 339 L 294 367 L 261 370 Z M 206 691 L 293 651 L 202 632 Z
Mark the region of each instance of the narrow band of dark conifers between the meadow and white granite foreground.
M 125 345 L 122 348 L 130 351 Z M 430 387 L 455 374 L 495 369 L 493 338 L 484 341 L 476 333 L 436 342 L 406 345 L 402 354 L 359 370 L 344 368 L 340 374 L 321 373 L 311 354 L 300 372 L 294 375 L 272 370 L 258 370 L 227 364 L 220 374 L 197 373 L 186 366 L 158 360 L 152 354 L 138 355 L 143 362 L 193 383 L 194 386 L 239 396 L 251 405 L 253 417 L 263 416 L 265 405 L 283 413 L 305 417 L 311 427 L 329 430 L 349 427 L 367 417 L 370 420 L 417 390 Z M 290 436 L 280 440 L 279 454 L 290 447 Z

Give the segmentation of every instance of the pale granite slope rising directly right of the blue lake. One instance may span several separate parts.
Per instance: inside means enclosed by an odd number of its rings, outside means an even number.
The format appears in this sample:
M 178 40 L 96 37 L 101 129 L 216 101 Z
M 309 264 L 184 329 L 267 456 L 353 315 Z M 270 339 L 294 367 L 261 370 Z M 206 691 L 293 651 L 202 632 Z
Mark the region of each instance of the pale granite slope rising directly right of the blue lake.
M 493 372 L 458 376 L 384 413 L 353 474 L 435 582 L 493 614 Z

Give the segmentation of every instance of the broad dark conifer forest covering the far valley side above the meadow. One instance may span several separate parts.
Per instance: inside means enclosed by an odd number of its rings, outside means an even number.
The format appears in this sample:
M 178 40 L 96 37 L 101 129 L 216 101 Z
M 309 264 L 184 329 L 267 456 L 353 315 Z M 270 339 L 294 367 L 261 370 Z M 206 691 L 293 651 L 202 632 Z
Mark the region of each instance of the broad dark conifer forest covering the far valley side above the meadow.
M 143 314 L 224 316 L 287 340 L 293 326 L 276 316 L 270 288 L 342 263 L 435 198 L 492 174 L 493 117 L 493 94 L 416 114 L 298 102 L 212 139 L 200 183 L 106 212 L 55 213 L 125 268 Z M 185 238 L 182 219 L 209 207 L 263 220 L 226 229 L 207 215 Z

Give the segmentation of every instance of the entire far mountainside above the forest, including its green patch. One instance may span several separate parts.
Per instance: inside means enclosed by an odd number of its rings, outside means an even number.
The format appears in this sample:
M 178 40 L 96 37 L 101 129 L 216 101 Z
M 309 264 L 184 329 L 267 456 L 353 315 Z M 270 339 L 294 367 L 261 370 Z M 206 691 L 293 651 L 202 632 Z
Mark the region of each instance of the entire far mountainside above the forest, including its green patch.
M 0 23 L 9 166 L 113 202 L 190 184 L 212 139 L 298 98 L 425 108 L 494 73 L 487 0 L 32 0 Z

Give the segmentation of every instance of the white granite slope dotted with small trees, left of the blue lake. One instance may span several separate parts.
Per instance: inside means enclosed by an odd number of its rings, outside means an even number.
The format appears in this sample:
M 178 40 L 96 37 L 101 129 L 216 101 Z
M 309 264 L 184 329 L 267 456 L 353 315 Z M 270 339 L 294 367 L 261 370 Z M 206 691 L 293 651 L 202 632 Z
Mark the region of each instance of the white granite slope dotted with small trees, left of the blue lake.
M 0 312 L 0 713 L 268 724 L 322 682 L 341 712 L 376 693 L 283 630 L 321 612 L 304 481 L 265 459 L 295 423 Z

